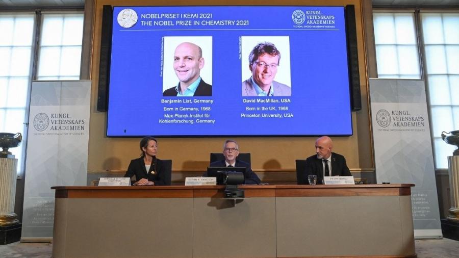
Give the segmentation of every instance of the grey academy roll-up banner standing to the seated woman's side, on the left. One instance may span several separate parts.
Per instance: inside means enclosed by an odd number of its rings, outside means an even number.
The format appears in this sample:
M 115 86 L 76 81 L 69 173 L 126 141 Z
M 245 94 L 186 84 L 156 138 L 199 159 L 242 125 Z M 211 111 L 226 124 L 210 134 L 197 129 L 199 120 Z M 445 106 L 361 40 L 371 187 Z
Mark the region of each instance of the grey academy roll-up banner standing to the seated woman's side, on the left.
M 86 186 L 91 81 L 32 83 L 21 242 L 53 239 L 52 186 Z

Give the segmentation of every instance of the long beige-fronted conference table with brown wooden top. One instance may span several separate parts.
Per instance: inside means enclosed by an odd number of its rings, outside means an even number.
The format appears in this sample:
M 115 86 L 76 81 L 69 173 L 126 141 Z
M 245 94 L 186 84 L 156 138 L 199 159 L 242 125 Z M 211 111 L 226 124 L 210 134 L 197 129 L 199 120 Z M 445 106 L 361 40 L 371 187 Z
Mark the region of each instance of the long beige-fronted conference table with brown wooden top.
M 416 257 L 412 186 L 52 187 L 53 257 Z

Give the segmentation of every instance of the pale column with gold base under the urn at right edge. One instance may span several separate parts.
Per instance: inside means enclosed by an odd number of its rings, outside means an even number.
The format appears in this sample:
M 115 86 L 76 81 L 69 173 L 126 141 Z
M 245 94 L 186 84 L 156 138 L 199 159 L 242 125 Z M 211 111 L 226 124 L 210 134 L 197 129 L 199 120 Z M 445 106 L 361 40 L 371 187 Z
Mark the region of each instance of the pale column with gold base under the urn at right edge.
M 446 219 L 459 222 L 459 156 L 448 157 L 448 171 L 451 208 Z

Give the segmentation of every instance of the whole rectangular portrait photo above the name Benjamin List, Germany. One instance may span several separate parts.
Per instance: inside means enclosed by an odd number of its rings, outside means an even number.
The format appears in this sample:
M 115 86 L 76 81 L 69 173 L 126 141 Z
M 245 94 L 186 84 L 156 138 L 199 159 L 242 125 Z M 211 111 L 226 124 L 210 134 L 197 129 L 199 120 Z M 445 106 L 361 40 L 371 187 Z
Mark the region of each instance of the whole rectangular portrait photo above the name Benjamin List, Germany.
M 164 37 L 163 96 L 212 96 L 212 37 Z

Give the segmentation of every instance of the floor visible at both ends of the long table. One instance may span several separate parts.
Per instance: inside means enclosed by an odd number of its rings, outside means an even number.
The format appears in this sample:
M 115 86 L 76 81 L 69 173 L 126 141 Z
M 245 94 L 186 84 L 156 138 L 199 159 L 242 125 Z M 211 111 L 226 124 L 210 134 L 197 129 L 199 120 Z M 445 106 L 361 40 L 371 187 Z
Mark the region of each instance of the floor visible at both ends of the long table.
M 451 239 L 416 240 L 418 258 L 457 258 L 459 241 Z M 0 257 L 5 258 L 49 258 L 53 249 L 52 243 L 12 243 L 0 245 Z

